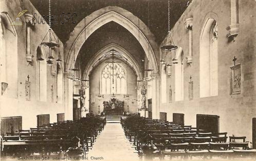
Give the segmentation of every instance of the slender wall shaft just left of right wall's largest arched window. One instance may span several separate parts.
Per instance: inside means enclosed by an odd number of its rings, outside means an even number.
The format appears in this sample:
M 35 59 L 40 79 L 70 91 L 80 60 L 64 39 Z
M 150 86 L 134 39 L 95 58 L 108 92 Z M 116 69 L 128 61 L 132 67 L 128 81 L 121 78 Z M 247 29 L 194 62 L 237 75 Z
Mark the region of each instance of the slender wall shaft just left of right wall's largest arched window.
M 189 56 L 186 57 L 186 63 L 192 63 L 192 29 L 193 29 L 193 17 L 189 17 L 185 20 L 186 29 L 189 30 Z

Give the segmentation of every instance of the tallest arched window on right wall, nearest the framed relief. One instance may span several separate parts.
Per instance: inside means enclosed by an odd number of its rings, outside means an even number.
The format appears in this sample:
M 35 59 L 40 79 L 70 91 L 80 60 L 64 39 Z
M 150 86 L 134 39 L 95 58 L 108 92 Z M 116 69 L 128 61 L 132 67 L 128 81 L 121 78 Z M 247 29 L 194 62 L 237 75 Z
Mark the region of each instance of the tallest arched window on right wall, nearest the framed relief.
M 218 96 L 218 25 L 208 18 L 200 40 L 200 97 Z

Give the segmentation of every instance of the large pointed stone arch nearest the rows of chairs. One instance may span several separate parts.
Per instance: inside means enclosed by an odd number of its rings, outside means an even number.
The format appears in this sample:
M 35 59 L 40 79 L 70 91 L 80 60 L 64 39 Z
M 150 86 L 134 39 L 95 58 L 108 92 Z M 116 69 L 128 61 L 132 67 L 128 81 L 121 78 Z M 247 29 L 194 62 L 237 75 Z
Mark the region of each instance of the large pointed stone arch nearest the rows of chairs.
M 146 55 L 149 57 L 152 62 L 152 68 L 154 71 L 158 70 L 157 67 L 157 55 L 158 48 L 157 43 L 154 41 L 153 34 L 149 31 L 148 27 L 141 21 L 141 28 L 137 27 L 138 18 L 131 14 L 129 11 L 126 11 L 123 8 L 119 8 L 116 6 L 108 6 L 102 8 L 98 11 L 93 12 L 89 16 L 86 17 L 85 20 L 81 20 L 81 22 L 74 28 L 73 33 L 70 36 L 70 39 L 65 44 L 65 52 L 67 63 L 65 65 L 66 71 L 70 69 L 73 58 L 77 57 L 79 50 L 75 50 L 74 48 L 81 48 L 84 44 L 85 40 L 98 28 L 106 23 L 111 21 L 122 25 L 128 31 L 133 34 L 133 36 L 138 40 L 140 33 L 140 45 L 143 47 Z M 145 35 L 144 33 L 149 33 Z M 148 37 L 151 37 L 149 40 Z M 75 54 L 75 56 L 73 55 Z

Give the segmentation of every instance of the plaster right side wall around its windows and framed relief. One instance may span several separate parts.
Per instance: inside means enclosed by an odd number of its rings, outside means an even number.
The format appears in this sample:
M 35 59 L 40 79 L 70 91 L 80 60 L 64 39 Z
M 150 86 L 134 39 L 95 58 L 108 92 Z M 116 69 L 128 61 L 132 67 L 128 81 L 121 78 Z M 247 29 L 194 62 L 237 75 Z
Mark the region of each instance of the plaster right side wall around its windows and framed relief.
M 185 124 L 192 127 L 196 127 L 196 114 L 218 115 L 220 132 L 227 132 L 228 136 L 247 136 L 247 141 L 252 141 L 252 118 L 256 117 L 256 2 L 239 0 L 239 35 L 234 40 L 227 37 L 226 28 L 231 23 L 230 8 L 230 0 L 193 0 L 172 28 L 172 39 L 175 45 L 183 48 L 186 60 L 189 56 L 189 32 L 184 21 L 193 17 L 193 62 L 191 66 L 184 64 L 183 101 L 175 101 L 175 65 L 172 66 L 172 75 L 167 76 L 167 87 L 172 87 L 172 103 L 161 103 L 160 112 L 167 112 L 169 121 L 172 121 L 172 113 L 184 113 Z M 200 35 L 209 12 L 217 15 L 218 23 L 218 96 L 200 98 L 200 88 L 204 88 L 199 83 Z M 236 64 L 241 63 L 241 94 L 230 96 L 230 67 L 234 56 Z M 194 82 L 193 100 L 188 97 L 190 76 Z M 166 95 L 169 97 L 169 90 Z

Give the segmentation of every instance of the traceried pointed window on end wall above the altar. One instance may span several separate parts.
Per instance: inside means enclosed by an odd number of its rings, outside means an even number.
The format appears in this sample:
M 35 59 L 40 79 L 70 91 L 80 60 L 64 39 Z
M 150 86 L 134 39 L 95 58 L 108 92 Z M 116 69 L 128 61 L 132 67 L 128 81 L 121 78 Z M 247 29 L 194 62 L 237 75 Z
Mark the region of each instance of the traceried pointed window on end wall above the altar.
M 102 94 L 126 94 L 126 73 L 121 65 L 108 63 L 101 74 Z

